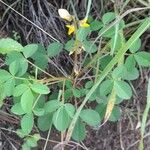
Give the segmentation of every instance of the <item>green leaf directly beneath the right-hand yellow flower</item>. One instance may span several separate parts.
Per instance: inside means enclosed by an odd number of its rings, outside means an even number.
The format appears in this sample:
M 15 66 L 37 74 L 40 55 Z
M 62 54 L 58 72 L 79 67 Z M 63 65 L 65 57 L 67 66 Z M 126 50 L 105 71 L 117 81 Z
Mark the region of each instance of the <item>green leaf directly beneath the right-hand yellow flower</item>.
M 76 33 L 77 40 L 83 42 L 84 40 L 86 40 L 86 37 L 90 32 L 91 32 L 90 28 L 83 28 L 83 27 L 79 28 Z

